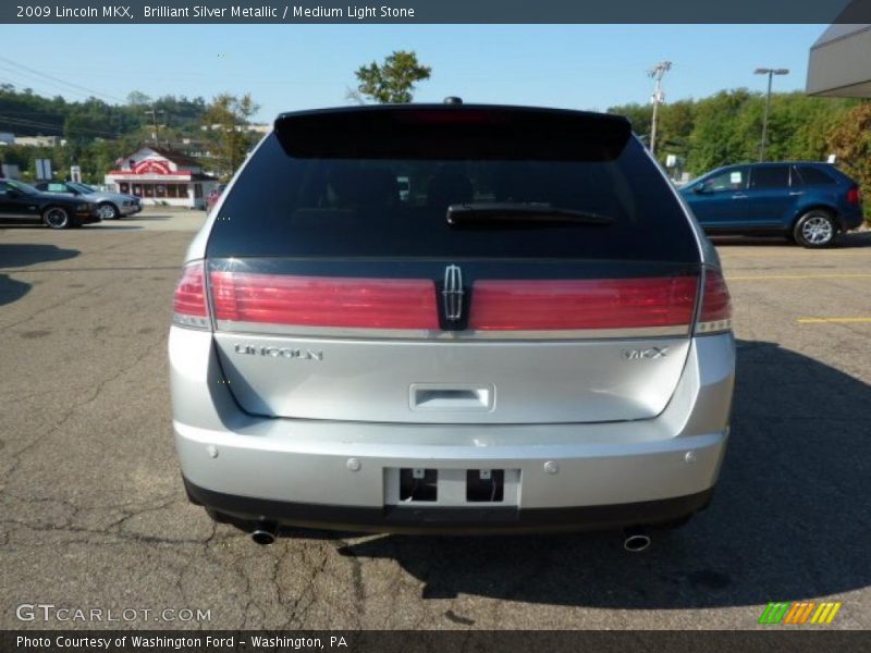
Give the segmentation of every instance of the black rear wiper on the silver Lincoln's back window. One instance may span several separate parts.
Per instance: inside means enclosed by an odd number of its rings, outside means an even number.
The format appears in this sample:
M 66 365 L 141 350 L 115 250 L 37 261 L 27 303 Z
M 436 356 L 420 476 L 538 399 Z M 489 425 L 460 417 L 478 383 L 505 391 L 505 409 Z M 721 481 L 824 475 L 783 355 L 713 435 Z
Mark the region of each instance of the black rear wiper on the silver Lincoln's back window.
M 547 202 L 468 202 L 447 207 L 447 224 L 452 226 L 484 224 L 613 224 L 610 215 L 576 209 L 562 209 Z

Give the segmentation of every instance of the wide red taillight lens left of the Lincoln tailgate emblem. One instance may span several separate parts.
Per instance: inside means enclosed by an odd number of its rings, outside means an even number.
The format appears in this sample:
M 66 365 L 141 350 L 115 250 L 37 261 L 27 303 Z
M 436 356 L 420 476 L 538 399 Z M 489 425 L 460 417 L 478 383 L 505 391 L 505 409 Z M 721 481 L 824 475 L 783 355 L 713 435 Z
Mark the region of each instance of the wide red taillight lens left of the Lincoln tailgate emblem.
M 430 280 L 212 272 L 218 320 L 298 326 L 438 329 Z

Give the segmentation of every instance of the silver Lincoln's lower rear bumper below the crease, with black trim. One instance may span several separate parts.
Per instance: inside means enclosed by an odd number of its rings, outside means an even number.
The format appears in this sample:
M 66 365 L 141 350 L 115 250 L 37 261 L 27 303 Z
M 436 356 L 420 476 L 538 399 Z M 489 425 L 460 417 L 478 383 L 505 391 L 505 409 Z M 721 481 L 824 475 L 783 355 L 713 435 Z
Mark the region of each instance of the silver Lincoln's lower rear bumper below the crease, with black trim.
M 480 429 L 479 429 L 480 430 Z M 415 438 L 416 429 L 405 429 Z M 481 431 L 482 433 L 486 431 Z M 703 507 L 716 482 L 725 433 L 659 443 L 438 447 L 186 432 L 176 447 L 197 503 L 243 520 L 376 531 L 594 530 L 657 525 Z M 582 433 L 578 435 L 582 440 Z M 246 446 L 247 445 L 247 446 Z M 390 505 L 397 468 L 519 470 L 516 505 Z M 555 469 L 555 471 L 554 471 Z M 481 528 L 479 528 L 481 527 Z

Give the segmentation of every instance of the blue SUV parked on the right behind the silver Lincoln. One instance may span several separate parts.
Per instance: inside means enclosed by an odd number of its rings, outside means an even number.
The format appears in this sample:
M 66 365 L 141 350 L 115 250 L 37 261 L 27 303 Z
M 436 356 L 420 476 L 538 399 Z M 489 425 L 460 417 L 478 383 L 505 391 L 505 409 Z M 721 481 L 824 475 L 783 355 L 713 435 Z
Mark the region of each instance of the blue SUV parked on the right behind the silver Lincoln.
M 784 235 L 825 247 L 862 223 L 859 185 L 829 163 L 719 168 L 680 189 L 709 235 Z

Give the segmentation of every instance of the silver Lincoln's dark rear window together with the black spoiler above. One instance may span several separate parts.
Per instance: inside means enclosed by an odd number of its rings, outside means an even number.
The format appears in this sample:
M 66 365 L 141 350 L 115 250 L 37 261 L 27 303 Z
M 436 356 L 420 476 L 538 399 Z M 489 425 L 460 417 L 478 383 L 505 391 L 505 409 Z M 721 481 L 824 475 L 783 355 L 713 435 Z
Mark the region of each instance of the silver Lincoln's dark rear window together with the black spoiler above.
M 578 114 L 582 128 L 573 128 L 573 112 L 550 122 L 528 112 L 519 128 L 507 112 L 459 126 L 450 124 L 456 110 L 429 109 L 420 121 L 397 113 L 394 128 L 341 133 L 339 112 L 330 128 L 280 119 L 224 200 L 208 256 L 699 260 L 668 183 L 610 116 L 597 130 Z M 449 206 L 479 202 L 612 221 L 447 223 Z

